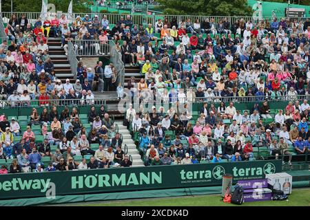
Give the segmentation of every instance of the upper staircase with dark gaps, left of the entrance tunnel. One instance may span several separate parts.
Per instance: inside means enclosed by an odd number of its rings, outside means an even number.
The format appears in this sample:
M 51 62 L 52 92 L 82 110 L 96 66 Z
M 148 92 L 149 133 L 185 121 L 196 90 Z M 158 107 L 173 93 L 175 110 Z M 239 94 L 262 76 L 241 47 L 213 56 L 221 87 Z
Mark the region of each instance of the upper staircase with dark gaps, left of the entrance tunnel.
M 65 55 L 65 50 L 61 48 L 61 39 L 53 37 L 48 38 L 48 51 L 52 63 L 54 63 L 56 77 L 59 78 L 62 83 L 65 83 L 66 78 L 70 79 L 70 83 L 75 83 L 68 57 Z

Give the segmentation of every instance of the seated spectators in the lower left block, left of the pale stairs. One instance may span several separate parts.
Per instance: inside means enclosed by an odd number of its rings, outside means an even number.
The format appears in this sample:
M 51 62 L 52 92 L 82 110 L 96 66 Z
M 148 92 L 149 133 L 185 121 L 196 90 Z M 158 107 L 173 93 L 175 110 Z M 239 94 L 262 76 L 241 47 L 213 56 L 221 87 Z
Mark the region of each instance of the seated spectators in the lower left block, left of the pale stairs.
M 132 165 L 103 106 L 98 111 L 90 107 L 87 115 L 80 115 L 75 107 L 71 112 L 68 107 L 61 112 L 44 108 L 41 115 L 33 108 L 24 131 L 16 118 L 8 121 L 1 115 L 0 131 L 0 159 L 12 162 L 10 173 Z

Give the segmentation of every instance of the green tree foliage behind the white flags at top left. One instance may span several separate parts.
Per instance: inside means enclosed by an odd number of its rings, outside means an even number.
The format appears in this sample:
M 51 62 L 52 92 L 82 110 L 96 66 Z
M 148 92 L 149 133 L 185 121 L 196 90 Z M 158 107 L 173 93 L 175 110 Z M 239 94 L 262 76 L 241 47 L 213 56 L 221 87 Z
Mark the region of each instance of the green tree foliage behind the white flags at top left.
M 89 0 L 74 0 L 73 12 L 87 12 L 87 7 L 84 3 Z M 68 12 L 70 0 L 48 0 L 48 3 L 53 3 L 56 11 Z M 13 0 L 13 12 L 41 12 L 41 0 Z M 11 11 L 11 0 L 2 0 L 2 11 Z

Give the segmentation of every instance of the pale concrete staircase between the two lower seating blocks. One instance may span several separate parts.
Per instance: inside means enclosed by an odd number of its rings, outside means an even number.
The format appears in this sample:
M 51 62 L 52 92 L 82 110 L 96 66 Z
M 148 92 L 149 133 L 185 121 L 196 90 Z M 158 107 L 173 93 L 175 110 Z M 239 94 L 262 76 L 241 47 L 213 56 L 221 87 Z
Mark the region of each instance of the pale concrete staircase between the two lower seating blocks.
M 136 144 L 134 144 L 134 140 L 132 140 L 132 135 L 130 135 L 130 131 L 127 130 L 126 126 L 123 126 L 123 120 L 116 120 L 115 124 L 118 125 L 118 132 L 123 135 L 123 145 L 125 146 L 125 144 L 127 144 L 127 154 L 132 156 L 132 166 L 144 166 L 141 155 L 136 149 Z

